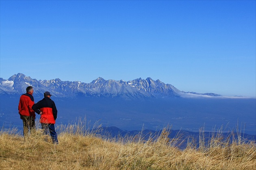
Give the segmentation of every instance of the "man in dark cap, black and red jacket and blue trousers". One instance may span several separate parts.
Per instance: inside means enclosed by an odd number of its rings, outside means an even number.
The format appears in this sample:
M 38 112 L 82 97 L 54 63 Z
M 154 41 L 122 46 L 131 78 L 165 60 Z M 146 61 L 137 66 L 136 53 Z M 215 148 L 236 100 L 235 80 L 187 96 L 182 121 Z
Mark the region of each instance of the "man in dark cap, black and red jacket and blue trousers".
M 43 94 L 44 98 L 32 106 L 32 109 L 40 114 L 40 123 L 43 132 L 47 134 L 47 129 L 50 131 L 52 142 L 58 144 L 57 133 L 55 131 L 55 120 L 57 118 L 57 109 L 54 101 L 50 99 L 52 96 L 49 92 Z

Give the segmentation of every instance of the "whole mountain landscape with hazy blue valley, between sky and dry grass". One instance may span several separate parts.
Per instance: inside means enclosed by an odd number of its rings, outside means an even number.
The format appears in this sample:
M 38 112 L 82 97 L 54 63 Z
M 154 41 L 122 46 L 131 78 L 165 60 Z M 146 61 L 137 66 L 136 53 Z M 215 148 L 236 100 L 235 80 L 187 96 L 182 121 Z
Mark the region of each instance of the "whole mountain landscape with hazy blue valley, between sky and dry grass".
M 22 129 L 17 108 L 27 86 L 34 87 L 35 103 L 45 91 L 53 95 L 57 125 L 85 118 L 88 123 L 99 122 L 103 127 L 124 131 L 158 131 L 166 126 L 185 131 L 199 131 L 202 127 L 205 131 L 222 127 L 232 131 L 242 127 L 245 133 L 256 134 L 256 99 L 184 92 L 150 77 L 128 82 L 99 77 L 83 83 L 59 78 L 36 80 L 22 73 L 8 80 L 0 78 L 0 127 Z

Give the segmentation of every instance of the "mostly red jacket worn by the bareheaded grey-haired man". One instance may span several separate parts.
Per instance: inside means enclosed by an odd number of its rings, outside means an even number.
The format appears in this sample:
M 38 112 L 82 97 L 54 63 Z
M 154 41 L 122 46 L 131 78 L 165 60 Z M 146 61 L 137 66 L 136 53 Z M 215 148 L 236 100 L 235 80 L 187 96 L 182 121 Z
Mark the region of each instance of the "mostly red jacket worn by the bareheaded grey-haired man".
M 19 114 L 23 116 L 33 116 L 35 118 L 35 111 L 32 109 L 34 103 L 34 97 L 30 93 L 21 95 L 18 107 Z

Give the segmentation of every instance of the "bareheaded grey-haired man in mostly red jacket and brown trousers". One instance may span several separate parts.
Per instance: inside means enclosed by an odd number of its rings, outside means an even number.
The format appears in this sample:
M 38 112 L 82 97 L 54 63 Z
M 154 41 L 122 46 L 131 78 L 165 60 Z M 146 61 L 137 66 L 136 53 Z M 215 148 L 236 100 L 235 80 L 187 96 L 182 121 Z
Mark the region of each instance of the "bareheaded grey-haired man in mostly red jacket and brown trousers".
M 35 103 L 33 97 L 33 87 L 28 86 L 26 88 L 26 92 L 27 93 L 21 95 L 18 106 L 20 119 L 23 121 L 23 134 L 25 138 L 28 136 L 29 130 L 30 133 L 35 131 L 35 112 L 32 109 L 32 106 Z

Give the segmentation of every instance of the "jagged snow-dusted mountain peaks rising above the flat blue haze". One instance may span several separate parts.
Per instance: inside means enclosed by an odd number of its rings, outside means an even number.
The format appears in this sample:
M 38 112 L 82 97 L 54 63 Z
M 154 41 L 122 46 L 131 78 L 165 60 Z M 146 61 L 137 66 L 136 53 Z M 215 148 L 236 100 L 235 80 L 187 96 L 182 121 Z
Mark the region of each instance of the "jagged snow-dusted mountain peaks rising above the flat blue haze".
M 171 84 L 148 77 L 131 81 L 104 80 L 99 77 L 91 83 L 79 81 L 36 80 L 22 73 L 11 76 L 8 80 L 0 78 L 0 93 L 7 95 L 21 95 L 26 92 L 27 86 L 33 86 L 34 95 L 41 96 L 49 91 L 55 97 L 121 97 L 124 99 L 141 99 L 148 97 L 181 97 L 184 94 L 220 96 L 214 93 L 194 93 L 180 91 Z

